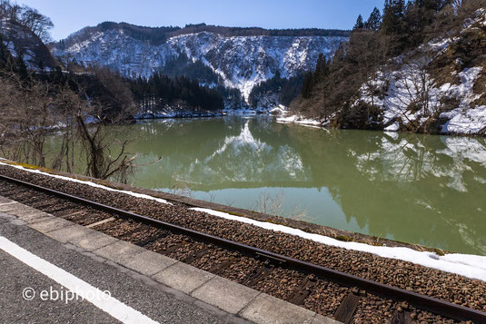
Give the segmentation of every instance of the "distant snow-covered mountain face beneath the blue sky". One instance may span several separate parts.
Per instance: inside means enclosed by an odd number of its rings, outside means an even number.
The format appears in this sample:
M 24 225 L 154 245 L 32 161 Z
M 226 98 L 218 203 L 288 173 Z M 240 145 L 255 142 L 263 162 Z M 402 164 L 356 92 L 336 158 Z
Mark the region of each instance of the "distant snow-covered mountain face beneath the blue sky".
M 191 34 L 185 34 L 184 28 L 160 39 L 151 34 L 149 39 L 146 34 L 153 28 L 128 26 L 110 23 L 109 28 L 84 28 L 55 44 L 53 54 L 74 58 L 79 64 L 106 65 L 130 77 L 163 71 L 165 64 L 185 54 L 189 62 L 202 62 L 221 83 L 240 89 L 247 97 L 255 84 L 273 77 L 277 70 L 290 77 L 311 69 L 319 54 L 331 56 L 347 39 L 345 32 L 322 35 L 322 30 L 318 35 L 295 31 L 272 35 L 264 30 L 256 35 L 228 35 L 211 28 Z

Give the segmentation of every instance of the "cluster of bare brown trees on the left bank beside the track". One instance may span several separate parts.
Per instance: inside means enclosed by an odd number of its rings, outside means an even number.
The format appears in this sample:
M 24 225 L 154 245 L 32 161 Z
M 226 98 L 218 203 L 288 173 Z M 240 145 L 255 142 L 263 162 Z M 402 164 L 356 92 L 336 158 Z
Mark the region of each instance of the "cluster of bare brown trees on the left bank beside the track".
M 126 152 L 129 141 L 119 141 L 103 123 L 100 105 L 67 86 L 25 82 L 15 74 L 0 76 L 0 88 L 0 152 L 6 158 L 74 172 L 84 156 L 86 175 L 126 181 L 136 156 Z M 54 132 L 61 141 L 49 150 L 46 142 Z

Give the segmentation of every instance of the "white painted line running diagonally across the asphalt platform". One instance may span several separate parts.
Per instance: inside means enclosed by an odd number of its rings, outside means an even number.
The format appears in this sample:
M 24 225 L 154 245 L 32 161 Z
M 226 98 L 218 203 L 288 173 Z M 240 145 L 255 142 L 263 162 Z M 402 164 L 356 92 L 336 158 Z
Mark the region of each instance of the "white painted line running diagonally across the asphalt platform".
M 73 291 L 80 297 L 97 296 L 98 298 L 85 300 L 91 302 L 98 309 L 104 310 L 106 313 L 114 317 L 114 319 L 118 319 L 126 324 L 159 324 L 153 319 L 146 317 L 140 311 L 132 309 L 118 299 L 114 299 L 114 297 L 109 299 L 102 298 L 102 296 L 106 297 L 104 291 L 98 290 L 84 280 L 81 280 L 71 273 L 56 267 L 54 264 L 37 257 L 35 254 L 21 248 L 13 241 L 9 241 L 3 236 L 0 236 L 0 250 L 5 250 L 8 254 L 21 260 L 29 267 L 41 272 L 50 279 L 55 280 L 67 290 Z

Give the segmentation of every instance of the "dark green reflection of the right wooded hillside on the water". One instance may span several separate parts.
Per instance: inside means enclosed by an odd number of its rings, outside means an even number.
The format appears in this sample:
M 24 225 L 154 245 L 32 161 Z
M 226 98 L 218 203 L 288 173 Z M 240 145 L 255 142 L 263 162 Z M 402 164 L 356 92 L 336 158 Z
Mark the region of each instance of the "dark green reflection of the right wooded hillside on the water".
M 318 145 L 299 145 L 303 161 L 320 162 L 312 175 L 347 221 L 374 235 L 486 254 L 484 139 L 353 131 L 298 137 Z

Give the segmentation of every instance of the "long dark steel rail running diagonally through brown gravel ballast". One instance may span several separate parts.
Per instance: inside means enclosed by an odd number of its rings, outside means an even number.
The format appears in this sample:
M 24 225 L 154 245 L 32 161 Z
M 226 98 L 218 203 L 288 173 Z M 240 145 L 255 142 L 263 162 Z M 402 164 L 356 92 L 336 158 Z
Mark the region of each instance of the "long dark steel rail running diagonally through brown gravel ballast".
M 267 260 L 280 263 L 281 265 L 284 264 L 285 268 L 298 270 L 307 274 L 314 274 L 318 277 L 321 277 L 324 280 L 331 280 L 343 286 L 357 287 L 360 290 L 365 290 L 367 292 L 372 293 L 372 295 L 379 296 L 384 299 L 392 299 L 399 302 L 406 301 L 417 309 L 430 311 L 431 313 L 441 315 L 449 319 L 471 320 L 476 323 L 486 323 L 486 313 L 482 312 L 481 310 L 470 309 L 461 305 L 453 304 L 449 301 L 435 299 L 433 297 L 425 296 L 413 291 L 402 290 L 400 288 L 386 285 L 381 282 L 363 279 L 339 270 L 332 270 L 330 268 L 325 268 L 303 260 L 296 260 L 281 254 L 273 253 L 268 250 L 254 248 L 249 245 L 245 245 L 235 241 L 229 241 L 217 236 L 213 236 L 211 234 L 203 233 L 201 231 L 194 231 L 191 229 L 187 229 L 182 226 L 174 225 L 166 221 L 155 220 L 153 218 L 139 215 L 131 211 L 120 210 L 118 208 L 108 206 L 100 202 L 89 201 L 84 198 L 76 197 L 74 195 L 62 191 L 56 191 L 50 188 L 45 188 L 36 185 L 34 183 L 24 182 L 15 178 L 5 176 L 3 174 L 0 174 L 0 179 L 8 182 L 21 184 L 26 187 L 33 188 L 37 191 L 48 192 L 57 197 L 61 197 L 65 200 L 75 201 L 75 202 L 82 203 L 84 205 L 89 205 L 98 210 L 115 213 L 125 219 L 140 221 L 144 224 L 151 225 L 157 228 L 183 233 L 184 235 L 191 236 L 200 241 L 211 242 L 216 245 L 223 246 L 230 250 L 237 250 L 243 253 L 244 255 L 249 255 L 252 256 L 253 258 L 263 257 Z

